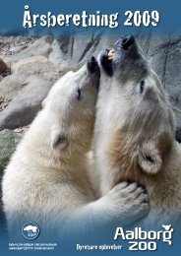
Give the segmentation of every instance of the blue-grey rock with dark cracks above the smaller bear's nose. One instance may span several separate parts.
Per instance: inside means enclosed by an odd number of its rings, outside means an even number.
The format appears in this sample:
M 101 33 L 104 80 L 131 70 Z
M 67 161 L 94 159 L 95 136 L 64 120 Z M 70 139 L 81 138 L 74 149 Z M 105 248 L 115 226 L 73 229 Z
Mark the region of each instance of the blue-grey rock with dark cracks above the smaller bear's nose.
M 105 47 L 112 47 L 117 35 L 107 36 L 102 32 L 95 32 L 88 36 L 87 32 L 79 32 L 74 35 L 60 36 L 55 38 L 49 54 L 49 60 L 55 64 L 81 66 L 88 58 Z M 81 46 L 81 47 L 80 47 Z

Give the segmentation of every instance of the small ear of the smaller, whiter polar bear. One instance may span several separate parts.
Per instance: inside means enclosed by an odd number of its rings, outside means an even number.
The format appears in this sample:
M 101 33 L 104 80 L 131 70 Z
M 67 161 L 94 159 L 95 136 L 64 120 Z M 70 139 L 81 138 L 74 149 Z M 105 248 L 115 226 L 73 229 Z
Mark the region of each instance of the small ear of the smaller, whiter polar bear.
M 51 132 L 51 147 L 54 150 L 63 150 L 68 145 L 68 138 L 59 132 Z

